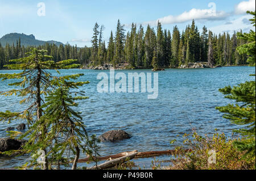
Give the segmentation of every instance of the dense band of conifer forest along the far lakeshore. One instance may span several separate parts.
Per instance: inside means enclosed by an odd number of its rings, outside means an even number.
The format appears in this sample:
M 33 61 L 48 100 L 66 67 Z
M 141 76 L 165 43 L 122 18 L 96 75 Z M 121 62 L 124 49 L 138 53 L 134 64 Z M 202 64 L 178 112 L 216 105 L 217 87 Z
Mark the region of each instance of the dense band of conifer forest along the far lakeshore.
M 200 33 L 195 20 L 185 30 L 180 31 L 175 26 L 172 32 L 163 30 L 161 23 L 156 28 L 148 25 L 146 29 L 133 23 L 126 32 L 118 20 L 108 43 L 104 41 L 104 29 L 103 25 L 95 24 L 92 47 L 46 43 L 38 48 L 48 50 L 46 54 L 56 62 L 76 59 L 82 66 L 128 63 L 127 68 L 177 68 L 188 62 L 208 62 L 211 66 L 247 64 L 246 55 L 240 55 L 236 50 L 246 43 L 237 39 L 241 32 L 216 35 L 204 26 Z M 31 47 L 21 45 L 20 39 L 16 44 L 6 44 L 5 47 L 0 44 L 0 69 L 9 60 L 25 57 Z

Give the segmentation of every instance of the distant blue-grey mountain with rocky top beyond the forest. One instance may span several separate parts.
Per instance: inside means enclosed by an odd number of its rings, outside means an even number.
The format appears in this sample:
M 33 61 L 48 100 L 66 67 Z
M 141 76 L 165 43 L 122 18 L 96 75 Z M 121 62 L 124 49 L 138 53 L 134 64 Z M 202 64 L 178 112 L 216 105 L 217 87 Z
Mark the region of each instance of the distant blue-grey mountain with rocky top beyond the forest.
M 24 45 L 24 47 L 28 46 L 39 46 L 39 45 L 44 45 L 45 43 L 49 44 L 56 44 L 59 46 L 60 44 L 63 44 L 59 41 L 42 41 L 42 40 L 36 40 L 34 35 L 25 35 L 23 33 L 9 33 L 0 39 L 0 43 L 3 47 L 5 47 L 6 43 L 10 45 L 16 46 L 16 41 L 19 41 L 20 39 L 20 45 Z

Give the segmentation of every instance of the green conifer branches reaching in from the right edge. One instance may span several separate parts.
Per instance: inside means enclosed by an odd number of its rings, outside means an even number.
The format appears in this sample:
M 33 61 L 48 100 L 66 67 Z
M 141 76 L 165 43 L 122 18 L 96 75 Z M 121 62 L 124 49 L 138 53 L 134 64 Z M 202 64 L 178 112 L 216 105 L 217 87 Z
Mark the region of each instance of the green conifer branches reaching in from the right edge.
M 250 19 L 255 26 L 255 11 L 247 13 L 253 15 Z M 238 33 L 238 38 L 245 39 L 246 44 L 238 47 L 240 54 L 247 54 L 247 61 L 250 65 L 255 66 L 255 32 Z M 254 75 L 255 76 L 255 75 Z M 243 125 L 244 127 L 235 132 L 246 136 L 246 140 L 236 141 L 234 145 L 241 151 L 247 151 L 255 157 L 255 81 L 246 81 L 234 87 L 224 87 L 220 91 L 225 94 L 225 98 L 236 100 L 240 104 L 228 104 L 227 106 L 216 107 L 217 110 L 224 112 L 224 118 L 230 120 L 233 124 Z

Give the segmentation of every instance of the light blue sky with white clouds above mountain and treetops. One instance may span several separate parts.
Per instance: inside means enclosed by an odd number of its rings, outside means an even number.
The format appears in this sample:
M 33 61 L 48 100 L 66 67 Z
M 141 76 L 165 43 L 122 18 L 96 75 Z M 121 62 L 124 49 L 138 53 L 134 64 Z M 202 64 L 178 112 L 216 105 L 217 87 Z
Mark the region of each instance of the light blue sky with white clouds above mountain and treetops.
M 115 32 L 118 19 L 125 24 L 147 24 L 182 32 L 192 19 L 201 30 L 214 33 L 247 32 L 254 28 L 246 10 L 255 11 L 254 0 L 0 0 L 0 37 L 7 33 L 33 34 L 38 40 L 55 40 L 78 47 L 90 46 L 93 26 L 104 24 L 104 40 Z M 255 28 L 254 28 L 255 30 Z

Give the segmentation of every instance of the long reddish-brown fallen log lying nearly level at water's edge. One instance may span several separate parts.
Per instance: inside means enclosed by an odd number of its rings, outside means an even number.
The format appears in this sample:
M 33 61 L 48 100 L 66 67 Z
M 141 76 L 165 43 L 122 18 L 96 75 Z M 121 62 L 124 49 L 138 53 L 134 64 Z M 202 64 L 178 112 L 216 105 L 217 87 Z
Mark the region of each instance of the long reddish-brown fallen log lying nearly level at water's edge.
M 138 152 L 138 154 L 135 155 L 135 158 L 148 158 L 148 157 L 158 157 L 160 155 L 171 155 L 171 154 L 174 154 L 175 151 L 176 150 Z M 184 151 L 191 151 L 191 149 L 186 149 Z M 97 157 L 97 161 L 120 158 L 120 157 L 123 157 L 125 155 L 129 155 L 129 154 L 132 154 L 132 153 L 135 153 L 135 152 L 137 152 L 137 150 L 126 151 L 126 152 L 122 152 L 122 153 L 118 153 L 118 154 L 108 155 L 108 156 L 105 156 L 105 157 Z M 93 159 L 95 159 L 95 158 L 93 158 Z M 79 159 L 78 163 L 91 162 L 91 161 L 92 161 L 92 159 L 90 159 L 88 157 L 88 158 Z

